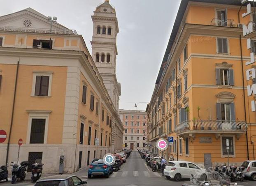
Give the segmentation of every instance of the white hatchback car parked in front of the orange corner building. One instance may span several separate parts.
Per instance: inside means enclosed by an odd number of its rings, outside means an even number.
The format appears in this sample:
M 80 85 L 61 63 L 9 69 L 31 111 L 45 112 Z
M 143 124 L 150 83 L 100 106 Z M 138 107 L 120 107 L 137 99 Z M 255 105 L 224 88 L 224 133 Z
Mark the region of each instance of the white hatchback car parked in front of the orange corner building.
M 179 181 L 182 178 L 191 178 L 191 175 L 197 175 L 203 180 L 206 180 L 208 177 L 205 169 L 188 161 L 169 161 L 168 165 L 165 166 L 163 174 L 168 179 L 174 178 L 175 181 Z

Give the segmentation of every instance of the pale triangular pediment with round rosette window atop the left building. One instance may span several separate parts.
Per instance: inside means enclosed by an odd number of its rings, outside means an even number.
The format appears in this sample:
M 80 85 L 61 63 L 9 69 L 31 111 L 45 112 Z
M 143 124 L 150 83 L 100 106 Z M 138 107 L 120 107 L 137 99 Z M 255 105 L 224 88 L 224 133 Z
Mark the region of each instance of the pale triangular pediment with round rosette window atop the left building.
M 26 28 L 26 29 L 51 29 L 51 21 L 47 16 L 27 8 L 12 14 L 0 17 L 0 27 L 6 28 Z M 52 30 L 69 30 L 63 25 L 52 22 Z

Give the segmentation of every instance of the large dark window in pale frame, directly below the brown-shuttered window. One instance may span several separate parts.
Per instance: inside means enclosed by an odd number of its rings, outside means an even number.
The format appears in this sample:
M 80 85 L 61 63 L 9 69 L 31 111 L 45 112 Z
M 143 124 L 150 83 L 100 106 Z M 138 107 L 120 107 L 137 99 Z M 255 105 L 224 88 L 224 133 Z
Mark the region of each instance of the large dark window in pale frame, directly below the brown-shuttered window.
M 30 131 L 30 143 L 44 143 L 46 119 L 32 119 Z

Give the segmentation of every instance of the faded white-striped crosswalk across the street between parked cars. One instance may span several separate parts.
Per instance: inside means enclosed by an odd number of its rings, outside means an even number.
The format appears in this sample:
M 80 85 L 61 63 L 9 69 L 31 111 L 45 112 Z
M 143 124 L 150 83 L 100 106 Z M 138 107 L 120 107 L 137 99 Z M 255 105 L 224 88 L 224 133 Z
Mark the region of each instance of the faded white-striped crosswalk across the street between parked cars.
M 111 177 L 162 177 L 158 172 L 148 171 L 117 171 Z

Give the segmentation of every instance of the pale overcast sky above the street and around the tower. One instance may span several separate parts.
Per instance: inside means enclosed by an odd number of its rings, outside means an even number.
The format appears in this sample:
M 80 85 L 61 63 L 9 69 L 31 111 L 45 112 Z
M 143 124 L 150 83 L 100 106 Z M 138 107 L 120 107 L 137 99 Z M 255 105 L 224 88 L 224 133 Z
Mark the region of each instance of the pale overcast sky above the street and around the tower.
M 104 0 L 0 0 L 0 16 L 31 7 L 82 34 L 91 52 L 95 7 Z M 119 23 L 116 61 L 120 109 L 145 110 L 181 0 L 110 0 Z

